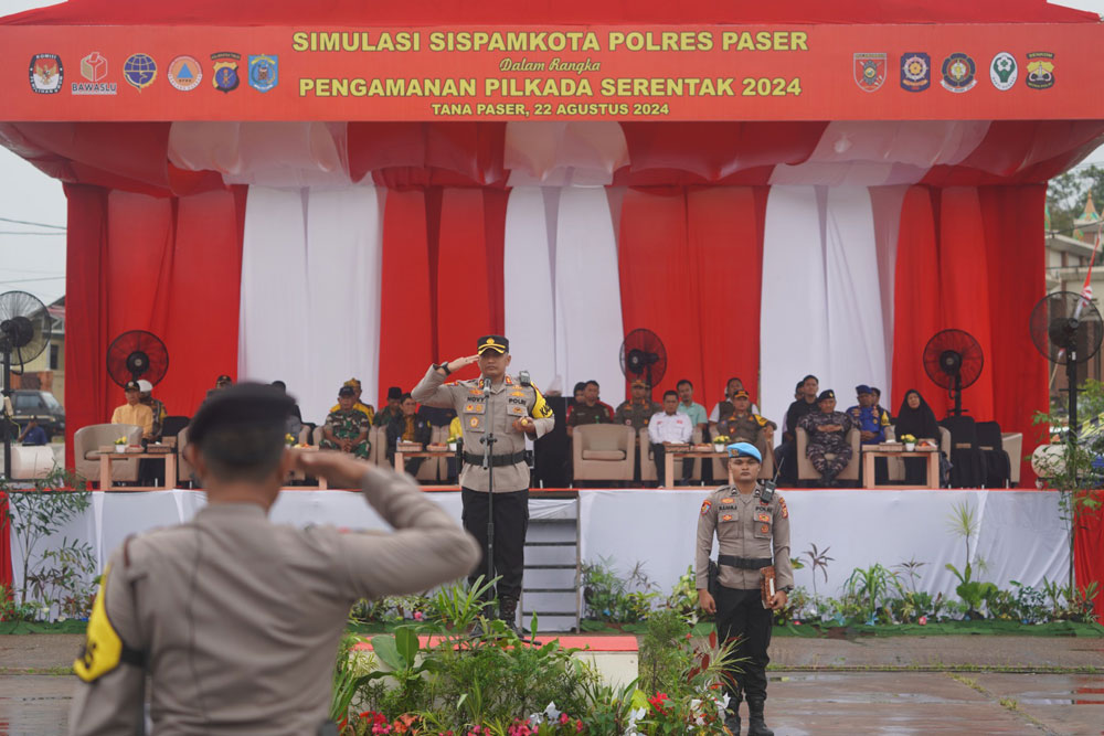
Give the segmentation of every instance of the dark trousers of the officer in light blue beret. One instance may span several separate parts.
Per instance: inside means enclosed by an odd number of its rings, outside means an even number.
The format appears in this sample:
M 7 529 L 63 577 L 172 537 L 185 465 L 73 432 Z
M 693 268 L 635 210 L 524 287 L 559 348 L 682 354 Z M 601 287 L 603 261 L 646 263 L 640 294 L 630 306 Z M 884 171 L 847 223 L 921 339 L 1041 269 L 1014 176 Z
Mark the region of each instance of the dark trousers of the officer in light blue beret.
M 716 631 L 722 641 L 736 640 L 733 657 L 739 661 L 728 669 L 730 694 L 741 691 L 744 697 L 766 698 L 766 665 L 771 662 L 771 629 L 774 611 L 763 608 L 758 588 L 737 590 L 721 586 L 716 594 Z

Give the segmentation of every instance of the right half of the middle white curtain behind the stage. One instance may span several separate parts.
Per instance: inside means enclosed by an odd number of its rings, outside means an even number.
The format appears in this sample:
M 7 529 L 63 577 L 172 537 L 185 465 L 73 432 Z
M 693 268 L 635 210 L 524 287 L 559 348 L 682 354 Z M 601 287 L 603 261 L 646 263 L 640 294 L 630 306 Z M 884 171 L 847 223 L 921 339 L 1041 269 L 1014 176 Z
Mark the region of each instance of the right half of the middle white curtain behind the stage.
M 597 381 L 606 398 L 620 393 L 624 340 L 622 285 L 609 202 L 602 188 L 560 193 L 555 245 L 556 373 L 564 394 L 578 381 Z M 643 296 L 643 295 L 641 295 Z M 616 391 L 613 391 L 616 388 Z

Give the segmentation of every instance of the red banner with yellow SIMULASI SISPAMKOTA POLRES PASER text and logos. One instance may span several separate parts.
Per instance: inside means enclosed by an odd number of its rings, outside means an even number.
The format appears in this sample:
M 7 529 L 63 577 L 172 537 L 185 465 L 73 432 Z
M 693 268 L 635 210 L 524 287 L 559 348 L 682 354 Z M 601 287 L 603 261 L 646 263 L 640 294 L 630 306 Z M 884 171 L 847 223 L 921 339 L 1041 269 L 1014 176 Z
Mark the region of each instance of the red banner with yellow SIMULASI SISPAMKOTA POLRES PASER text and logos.
M 7 120 L 1096 119 L 1098 24 L 0 28 Z

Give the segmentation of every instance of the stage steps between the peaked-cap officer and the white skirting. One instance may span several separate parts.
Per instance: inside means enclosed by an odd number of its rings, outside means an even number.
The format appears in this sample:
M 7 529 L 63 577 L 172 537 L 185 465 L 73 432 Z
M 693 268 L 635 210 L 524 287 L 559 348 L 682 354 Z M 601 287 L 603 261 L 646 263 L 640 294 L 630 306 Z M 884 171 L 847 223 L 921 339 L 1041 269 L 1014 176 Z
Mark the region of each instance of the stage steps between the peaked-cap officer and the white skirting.
M 541 632 L 578 631 L 578 499 L 565 500 L 556 513 L 530 518 L 526 535 L 521 626 L 533 615 Z

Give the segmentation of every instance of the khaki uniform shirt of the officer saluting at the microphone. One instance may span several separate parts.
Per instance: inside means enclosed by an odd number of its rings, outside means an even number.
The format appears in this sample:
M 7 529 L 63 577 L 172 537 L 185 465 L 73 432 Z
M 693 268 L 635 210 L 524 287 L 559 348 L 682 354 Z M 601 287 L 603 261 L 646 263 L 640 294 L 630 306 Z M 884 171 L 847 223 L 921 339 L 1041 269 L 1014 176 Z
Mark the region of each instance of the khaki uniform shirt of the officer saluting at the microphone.
M 513 455 L 526 449 L 526 433 L 513 428 L 514 419 L 531 417 L 537 427 L 537 438 L 552 431 L 555 417 L 552 407 L 537 386 L 522 386 L 517 378 L 506 376 L 498 386 L 484 395 L 482 378 L 445 383 L 445 376 L 429 366 L 425 377 L 414 386 L 411 395 L 425 406 L 454 409 L 464 429 L 464 451 L 482 457 L 486 446 L 479 439 L 493 433 L 495 455 Z M 481 465 L 464 463 L 460 486 L 486 493 L 490 490 L 488 471 Z M 495 468 L 497 492 L 522 491 L 529 488 L 529 466 L 522 462 Z

